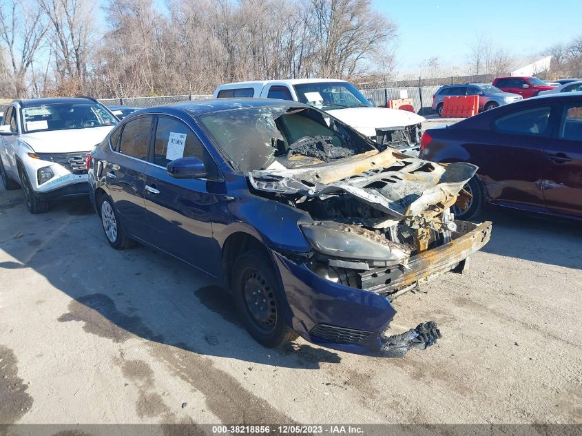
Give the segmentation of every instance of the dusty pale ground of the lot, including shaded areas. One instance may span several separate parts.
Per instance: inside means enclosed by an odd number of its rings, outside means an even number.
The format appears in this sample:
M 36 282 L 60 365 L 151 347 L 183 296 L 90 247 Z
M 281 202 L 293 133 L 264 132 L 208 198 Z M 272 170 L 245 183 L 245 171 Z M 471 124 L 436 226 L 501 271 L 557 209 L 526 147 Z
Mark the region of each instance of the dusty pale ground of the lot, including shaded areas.
M 388 360 L 264 349 L 221 289 L 114 251 L 86 200 L 0 188 L 0 423 L 581 423 L 582 225 L 489 211 L 464 275 L 395 302 L 442 340 Z

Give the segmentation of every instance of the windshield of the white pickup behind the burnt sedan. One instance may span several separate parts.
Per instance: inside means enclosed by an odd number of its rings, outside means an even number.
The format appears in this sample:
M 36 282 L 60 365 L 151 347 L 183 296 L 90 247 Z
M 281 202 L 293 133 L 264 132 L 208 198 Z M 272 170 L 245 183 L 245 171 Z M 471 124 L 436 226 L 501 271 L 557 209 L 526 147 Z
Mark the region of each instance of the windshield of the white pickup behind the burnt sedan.
M 372 107 L 372 103 L 348 82 L 302 83 L 293 87 L 301 103 L 322 109 Z

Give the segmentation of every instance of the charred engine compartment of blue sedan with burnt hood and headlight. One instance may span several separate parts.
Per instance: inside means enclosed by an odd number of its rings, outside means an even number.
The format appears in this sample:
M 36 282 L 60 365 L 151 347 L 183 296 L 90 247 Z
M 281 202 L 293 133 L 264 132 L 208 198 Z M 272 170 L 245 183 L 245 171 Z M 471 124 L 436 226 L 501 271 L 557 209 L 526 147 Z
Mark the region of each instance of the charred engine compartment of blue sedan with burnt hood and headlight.
M 337 163 L 249 173 L 259 195 L 306 211 L 300 229 L 313 247 L 305 264 L 326 280 L 396 295 L 408 262 L 450 242 L 450 207 L 475 174 L 467 163 L 439 165 L 386 149 Z M 399 284 L 397 285 L 396 282 Z

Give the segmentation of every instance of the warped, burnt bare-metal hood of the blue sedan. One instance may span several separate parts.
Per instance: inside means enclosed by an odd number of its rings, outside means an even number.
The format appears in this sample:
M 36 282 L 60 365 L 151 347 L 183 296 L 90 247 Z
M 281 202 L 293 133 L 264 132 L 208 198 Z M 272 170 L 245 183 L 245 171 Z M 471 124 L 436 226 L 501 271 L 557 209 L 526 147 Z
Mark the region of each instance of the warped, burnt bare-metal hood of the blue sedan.
M 344 158 L 280 171 L 249 173 L 253 188 L 280 194 L 318 197 L 349 194 L 384 214 L 403 220 L 453 205 L 457 194 L 477 171 L 468 163 L 434 164 L 397 154 L 393 149 L 374 155 Z M 343 171 L 342 171 L 343 170 Z M 440 210 L 441 211 L 441 210 Z

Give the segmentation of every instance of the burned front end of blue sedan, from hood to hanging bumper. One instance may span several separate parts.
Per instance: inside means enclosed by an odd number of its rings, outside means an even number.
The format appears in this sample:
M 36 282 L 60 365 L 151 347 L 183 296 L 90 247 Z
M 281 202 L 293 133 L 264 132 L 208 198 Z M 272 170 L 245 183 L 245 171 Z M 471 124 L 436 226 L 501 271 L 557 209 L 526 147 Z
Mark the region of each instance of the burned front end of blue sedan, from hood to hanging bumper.
M 256 194 L 311 217 L 299 223 L 311 253 L 275 253 L 280 271 L 289 271 L 283 279 L 289 305 L 300 313 L 295 330 L 324 346 L 387 357 L 434 344 L 440 338 L 434 322 L 399 335 L 384 331 L 395 298 L 441 273 L 462 271 L 488 242 L 490 222 L 463 222 L 450 212 L 470 198 L 463 187 L 476 170 L 386 148 L 249 172 Z

